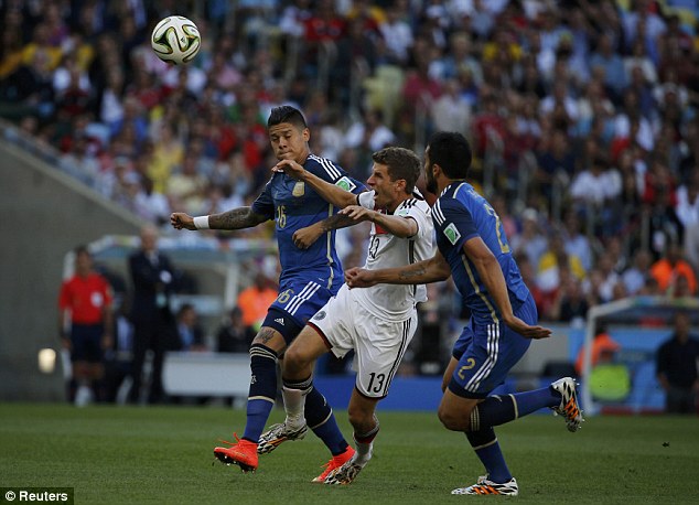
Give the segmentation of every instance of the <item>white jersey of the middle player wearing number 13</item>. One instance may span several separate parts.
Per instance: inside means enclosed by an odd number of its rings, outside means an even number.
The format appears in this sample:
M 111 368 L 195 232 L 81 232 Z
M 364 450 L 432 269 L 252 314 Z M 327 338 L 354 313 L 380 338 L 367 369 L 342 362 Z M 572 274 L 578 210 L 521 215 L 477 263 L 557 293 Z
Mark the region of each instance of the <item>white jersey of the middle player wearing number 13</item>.
M 374 198 L 375 192 L 368 191 L 361 193 L 357 202 L 365 208 L 375 209 Z M 434 256 L 434 227 L 427 202 L 408 198 L 398 205 L 394 215 L 415 219 L 418 232 L 412 237 L 400 238 L 373 223 L 364 266 L 367 270 L 402 267 Z M 352 291 L 369 313 L 386 321 L 404 321 L 410 318 L 416 304 L 427 300 L 424 284 L 376 284 Z

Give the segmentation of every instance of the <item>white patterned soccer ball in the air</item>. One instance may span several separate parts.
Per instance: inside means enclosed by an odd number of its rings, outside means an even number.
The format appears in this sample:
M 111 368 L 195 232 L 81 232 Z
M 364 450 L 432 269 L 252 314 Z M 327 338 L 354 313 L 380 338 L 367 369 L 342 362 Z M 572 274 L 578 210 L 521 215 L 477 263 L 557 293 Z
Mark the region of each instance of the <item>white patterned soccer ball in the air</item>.
M 202 45 L 200 31 L 182 15 L 169 15 L 153 29 L 150 45 L 160 60 L 175 65 L 192 61 Z

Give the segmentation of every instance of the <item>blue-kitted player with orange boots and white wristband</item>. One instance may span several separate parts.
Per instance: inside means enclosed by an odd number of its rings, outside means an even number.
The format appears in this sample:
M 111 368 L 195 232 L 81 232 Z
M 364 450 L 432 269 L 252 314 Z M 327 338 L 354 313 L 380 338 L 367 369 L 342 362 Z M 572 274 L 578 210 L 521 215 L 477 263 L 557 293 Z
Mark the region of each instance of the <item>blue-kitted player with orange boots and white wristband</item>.
M 303 115 L 290 106 L 272 109 L 267 121 L 269 140 L 277 159 L 291 160 L 324 181 L 346 191 L 359 193 L 364 185 L 331 160 L 311 153 L 311 132 Z M 269 219 L 276 222 L 281 275 L 279 297 L 270 305 L 267 318 L 250 346 L 250 391 L 247 423 L 241 439 L 229 448 L 217 447 L 214 455 L 224 463 L 239 465 L 244 472 L 258 466 L 258 442 L 277 397 L 277 361 L 305 323 L 343 283 L 342 265 L 335 251 L 335 232 L 325 233 L 308 248 L 294 245 L 294 234 L 321 222 L 340 209 L 325 202 L 301 181 L 275 172 L 262 193 L 249 207 L 221 214 L 191 217 L 173 213 L 171 224 L 176 229 L 240 229 Z M 282 365 L 283 366 L 283 365 Z M 337 428 L 332 409 L 323 395 L 313 389 L 307 397 L 308 426 L 332 453 L 326 471 L 315 477 L 322 482 L 330 471 L 341 466 L 354 454 Z

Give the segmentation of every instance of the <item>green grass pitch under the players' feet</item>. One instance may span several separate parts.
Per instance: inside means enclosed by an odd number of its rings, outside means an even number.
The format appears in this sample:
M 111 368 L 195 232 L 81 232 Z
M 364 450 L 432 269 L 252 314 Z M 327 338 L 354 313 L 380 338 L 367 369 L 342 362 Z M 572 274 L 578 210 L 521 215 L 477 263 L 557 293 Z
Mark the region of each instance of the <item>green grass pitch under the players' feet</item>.
M 346 412 L 335 412 L 351 440 Z M 275 409 L 270 422 L 280 421 Z M 348 486 L 310 481 L 329 459 L 312 434 L 254 474 L 214 462 L 245 412 L 219 407 L 0 404 L 0 486 L 74 487 L 76 504 L 699 503 L 696 417 L 594 417 L 569 433 L 534 415 L 496 431 L 519 496 L 451 496 L 482 468 L 432 412 L 384 412 L 375 458 Z

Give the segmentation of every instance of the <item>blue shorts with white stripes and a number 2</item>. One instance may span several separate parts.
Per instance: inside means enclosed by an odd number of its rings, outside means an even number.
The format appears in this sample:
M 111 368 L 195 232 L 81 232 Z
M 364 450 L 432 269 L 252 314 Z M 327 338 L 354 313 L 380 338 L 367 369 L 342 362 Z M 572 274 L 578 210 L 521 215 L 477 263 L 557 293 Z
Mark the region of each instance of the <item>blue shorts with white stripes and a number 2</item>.
M 534 298 L 529 296 L 515 315 L 527 324 L 537 324 Z M 454 343 L 452 355 L 459 359 L 449 390 L 464 398 L 485 398 L 505 382 L 510 368 L 531 344 L 505 324 L 482 324 L 472 318 Z

